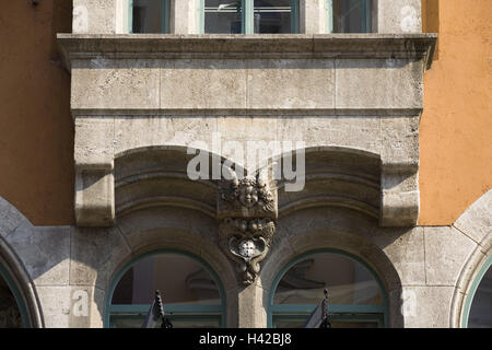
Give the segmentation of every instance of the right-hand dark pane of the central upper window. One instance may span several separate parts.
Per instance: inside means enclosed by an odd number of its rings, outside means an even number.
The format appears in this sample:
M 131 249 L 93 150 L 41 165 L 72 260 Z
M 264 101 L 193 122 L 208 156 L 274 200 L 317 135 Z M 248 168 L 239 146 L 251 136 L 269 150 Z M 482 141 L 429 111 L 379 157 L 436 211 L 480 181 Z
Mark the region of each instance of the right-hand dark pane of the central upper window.
M 292 33 L 291 0 L 255 0 L 255 33 Z

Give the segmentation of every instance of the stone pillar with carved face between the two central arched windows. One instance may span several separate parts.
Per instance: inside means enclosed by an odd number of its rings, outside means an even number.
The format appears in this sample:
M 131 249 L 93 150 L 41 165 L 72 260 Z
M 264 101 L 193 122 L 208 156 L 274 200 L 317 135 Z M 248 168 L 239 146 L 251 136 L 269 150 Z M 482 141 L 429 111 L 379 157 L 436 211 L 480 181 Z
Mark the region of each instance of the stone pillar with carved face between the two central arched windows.
M 277 187 L 272 172 L 221 180 L 218 196 L 220 245 L 235 264 L 237 288 L 229 293 L 230 326 L 267 327 L 265 290 L 259 284 L 260 262 L 270 250 L 278 217 Z M 235 316 L 237 315 L 237 317 Z

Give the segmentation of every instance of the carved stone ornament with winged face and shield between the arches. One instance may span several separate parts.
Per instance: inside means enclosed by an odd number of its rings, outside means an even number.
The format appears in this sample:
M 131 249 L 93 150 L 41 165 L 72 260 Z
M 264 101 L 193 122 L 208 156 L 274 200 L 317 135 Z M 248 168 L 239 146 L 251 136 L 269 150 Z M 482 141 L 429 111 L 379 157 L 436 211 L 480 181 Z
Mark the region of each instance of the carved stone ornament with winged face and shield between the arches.
M 238 179 L 231 170 L 231 180 L 222 180 L 218 198 L 220 242 L 237 264 L 244 284 L 255 282 L 259 262 L 267 256 L 277 219 L 277 192 L 266 172 Z

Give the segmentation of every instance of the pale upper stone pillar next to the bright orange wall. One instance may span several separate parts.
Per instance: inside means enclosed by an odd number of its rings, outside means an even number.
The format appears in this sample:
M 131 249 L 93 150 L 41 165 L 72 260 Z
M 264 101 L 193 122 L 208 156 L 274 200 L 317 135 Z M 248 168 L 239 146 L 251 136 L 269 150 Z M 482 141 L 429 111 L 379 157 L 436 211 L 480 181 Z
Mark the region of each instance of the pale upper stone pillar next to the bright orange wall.
M 422 33 L 421 0 L 377 0 L 376 33 Z

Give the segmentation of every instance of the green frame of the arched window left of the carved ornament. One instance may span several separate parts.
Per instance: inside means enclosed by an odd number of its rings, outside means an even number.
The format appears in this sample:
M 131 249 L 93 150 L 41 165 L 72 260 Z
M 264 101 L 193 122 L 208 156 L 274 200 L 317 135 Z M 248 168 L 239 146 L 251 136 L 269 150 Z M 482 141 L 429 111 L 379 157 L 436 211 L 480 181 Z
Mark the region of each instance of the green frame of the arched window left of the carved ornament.
M 180 255 L 186 256 L 196 262 L 200 264 L 203 269 L 207 270 L 207 272 L 210 273 L 213 281 L 215 282 L 215 285 L 219 290 L 219 295 L 221 299 L 220 304 L 203 304 L 203 305 L 183 305 L 183 304 L 167 304 L 164 300 L 164 311 L 166 313 L 166 316 L 171 320 L 174 318 L 176 319 L 188 319 L 188 318 L 216 318 L 219 319 L 219 324 L 221 328 L 225 328 L 226 326 L 226 294 L 225 290 L 223 288 L 223 284 L 221 280 L 219 279 L 215 271 L 210 267 L 209 264 L 203 261 L 200 257 L 185 252 L 185 250 L 178 250 L 178 249 L 157 249 L 148 252 L 145 254 L 139 255 L 138 257 L 131 259 L 128 261 L 121 269 L 118 270 L 118 272 L 115 275 L 115 277 L 112 279 L 112 283 L 108 289 L 108 293 L 106 296 L 106 308 L 104 314 L 104 328 L 112 328 L 112 315 L 125 315 L 125 314 L 132 314 L 131 316 L 137 317 L 137 314 L 143 314 L 147 316 L 149 313 L 149 310 L 151 307 L 151 304 L 112 304 L 113 294 L 115 293 L 116 287 L 118 285 L 121 278 L 125 276 L 125 273 L 131 269 L 138 261 L 155 256 L 155 255 L 166 255 L 166 254 L 174 254 L 174 255 Z M 176 313 L 177 315 L 172 315 L 172 313 Z M 196 315 L 195 313 L 199 313 L 199 315 Z M 130 316 L 130 317 L 131 317 Z

